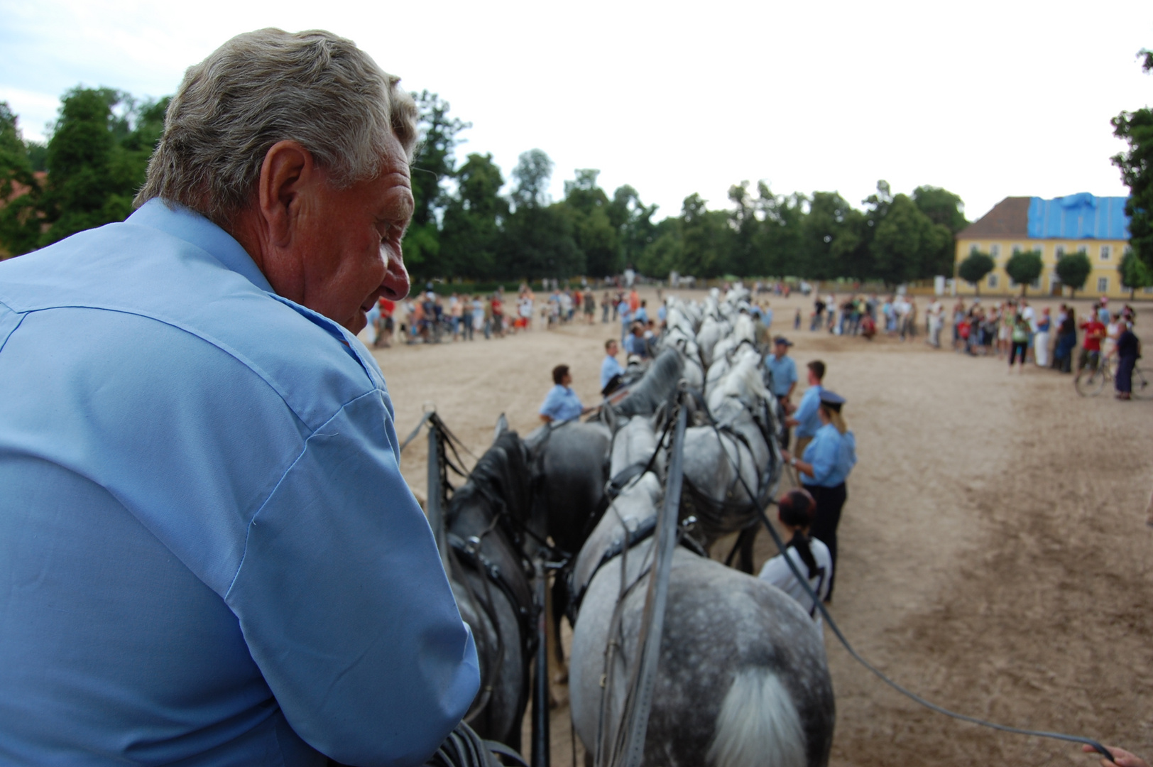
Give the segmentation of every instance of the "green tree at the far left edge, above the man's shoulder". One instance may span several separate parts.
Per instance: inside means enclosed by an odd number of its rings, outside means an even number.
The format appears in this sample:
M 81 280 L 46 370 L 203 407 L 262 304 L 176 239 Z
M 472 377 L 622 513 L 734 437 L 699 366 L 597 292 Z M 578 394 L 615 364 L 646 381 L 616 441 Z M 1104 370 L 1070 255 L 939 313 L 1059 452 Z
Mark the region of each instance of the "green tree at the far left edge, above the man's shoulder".
M 40 185 L 16 115 L 0 101 L 0 258 L 33 249 L 40 238 Z

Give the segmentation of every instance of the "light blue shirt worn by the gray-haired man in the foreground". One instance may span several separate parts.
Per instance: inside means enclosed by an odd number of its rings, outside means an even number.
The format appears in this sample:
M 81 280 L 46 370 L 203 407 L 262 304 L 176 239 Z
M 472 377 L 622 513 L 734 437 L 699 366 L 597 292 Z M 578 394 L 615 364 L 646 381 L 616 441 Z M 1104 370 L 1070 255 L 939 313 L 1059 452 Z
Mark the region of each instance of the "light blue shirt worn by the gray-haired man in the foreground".
M 464 715 L 380 370 L 221 228 L 0 263 L 0 762 L 417 765 Z

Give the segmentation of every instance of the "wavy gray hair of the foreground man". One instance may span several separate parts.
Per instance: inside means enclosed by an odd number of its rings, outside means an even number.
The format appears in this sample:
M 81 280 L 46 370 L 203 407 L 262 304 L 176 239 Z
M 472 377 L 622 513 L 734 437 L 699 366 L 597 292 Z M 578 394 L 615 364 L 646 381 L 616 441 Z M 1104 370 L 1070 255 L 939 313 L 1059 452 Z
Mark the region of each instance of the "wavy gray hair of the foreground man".
M 300 142 L 342 188 L 379 173 L 390 135 L 410 161 L 416 105 L 398 82 L 331 32 L 238 35 L 184 73 L 135 204 L 161 197 L 226 225 L 279 141 Z

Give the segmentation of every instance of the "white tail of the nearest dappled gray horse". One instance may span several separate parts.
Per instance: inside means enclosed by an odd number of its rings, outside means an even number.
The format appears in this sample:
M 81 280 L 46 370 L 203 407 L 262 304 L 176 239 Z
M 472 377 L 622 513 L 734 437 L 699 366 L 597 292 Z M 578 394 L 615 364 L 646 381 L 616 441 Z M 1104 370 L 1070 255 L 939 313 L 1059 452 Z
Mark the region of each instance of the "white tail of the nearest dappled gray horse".
M 708 759 L 714 767 L 805 767 L 805 731 L 777 675 L 751 666 L 737 672 L 717 715 Z

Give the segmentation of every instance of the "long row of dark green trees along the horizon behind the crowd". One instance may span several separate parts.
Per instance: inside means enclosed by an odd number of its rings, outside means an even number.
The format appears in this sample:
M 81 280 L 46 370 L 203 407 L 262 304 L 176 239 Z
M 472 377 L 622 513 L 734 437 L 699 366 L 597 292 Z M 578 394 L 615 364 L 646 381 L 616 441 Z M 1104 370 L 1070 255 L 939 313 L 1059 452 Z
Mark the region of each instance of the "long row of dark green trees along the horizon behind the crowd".
M 610 195 L 598 171 L 576 170 L 550 198 L 552 160 L 522 153 L 505 179 L 490 153 L 457 157 L 468 122 L 436 93 L 414 93 L 422 143 L 412 166 L 415 211 L 405 238 L 417 279 L 604 277 L 626 266 L 663 278 L 847 278 L 898 284 L 951 275 L 967 221 L 960 197 L 937 187 L 876 193 L 852 205 L 836 191 L 776 194 L 740 182 L 725 206 L 693 194 L 677 216 L 625 185 Z M 144 181 L 168 99 L 76 88 L 61 99 L 46 145 L 22 140 L 0 104 L 0 248 L 20 255 L 74 232 L 122 220 Z

